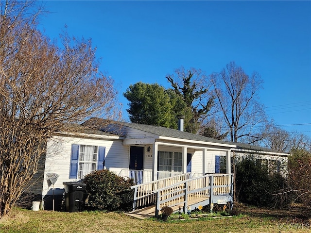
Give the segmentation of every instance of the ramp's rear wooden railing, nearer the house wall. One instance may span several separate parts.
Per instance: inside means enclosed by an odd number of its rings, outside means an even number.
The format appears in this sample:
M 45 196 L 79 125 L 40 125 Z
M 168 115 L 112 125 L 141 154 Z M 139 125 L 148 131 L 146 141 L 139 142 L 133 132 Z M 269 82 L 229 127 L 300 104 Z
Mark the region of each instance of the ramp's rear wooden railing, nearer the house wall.
M 154 191 L 163 187 L 171 186 L 174 183 L 180 183 L 188 180 L 191 177 L 191 173 L 184 173 L 177 176 L 172 176 L 165 179 L 159 179 L 156 181 L 141 183 L 134 185 L 131 189 L 134 190 L 133 210 L 150 206 L 155 204 Z

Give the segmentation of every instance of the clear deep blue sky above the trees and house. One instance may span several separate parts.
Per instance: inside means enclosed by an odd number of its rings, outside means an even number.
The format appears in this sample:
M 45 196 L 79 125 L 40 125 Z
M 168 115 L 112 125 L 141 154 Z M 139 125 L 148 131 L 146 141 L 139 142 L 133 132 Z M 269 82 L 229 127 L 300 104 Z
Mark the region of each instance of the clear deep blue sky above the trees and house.
M 311 1 L 44 1 L 50 38 L 92 38 L 119 90 L 159 83 L 184 66 L 219 72 L 231 61 L 264 80 L 260 101 L 288 132 L 311 136 Z

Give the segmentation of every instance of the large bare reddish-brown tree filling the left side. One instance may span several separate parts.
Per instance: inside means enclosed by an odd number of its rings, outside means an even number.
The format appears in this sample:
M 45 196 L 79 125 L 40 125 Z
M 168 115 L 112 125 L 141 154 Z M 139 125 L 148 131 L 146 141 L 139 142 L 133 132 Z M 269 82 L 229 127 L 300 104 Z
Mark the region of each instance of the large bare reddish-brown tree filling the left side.
M 91 116 L 116 119 L 120 112 L 91 40 L 65 33 L 62 46 L 51 42 L 36 29 L 34 4 L 0 1 L 0 216 L 33 178 L 54 132 Z

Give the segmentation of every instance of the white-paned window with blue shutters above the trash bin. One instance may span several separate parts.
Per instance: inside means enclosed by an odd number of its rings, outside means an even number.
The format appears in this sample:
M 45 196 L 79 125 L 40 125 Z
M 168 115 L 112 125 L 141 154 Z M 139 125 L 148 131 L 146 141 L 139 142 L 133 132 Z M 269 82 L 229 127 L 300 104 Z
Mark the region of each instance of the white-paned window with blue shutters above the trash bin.
M 92 171 L 103 169 L 104 157 L 104 147 L 72 144 L 69 179 L 83 179 Z

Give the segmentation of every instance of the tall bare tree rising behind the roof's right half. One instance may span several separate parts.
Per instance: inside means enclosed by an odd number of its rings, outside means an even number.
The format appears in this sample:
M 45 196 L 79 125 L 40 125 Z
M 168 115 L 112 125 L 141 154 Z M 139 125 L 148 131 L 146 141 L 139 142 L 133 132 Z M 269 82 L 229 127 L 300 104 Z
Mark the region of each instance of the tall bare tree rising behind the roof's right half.
M 210 75 L 218 107 L 229 128 L 232 142 L 253 143 L 261 140 L 259 129 L 265 128 L 266 116 L 258 102 L 260 75 L 247 75 L 242 67 L 229 63 L 220 73 Z

